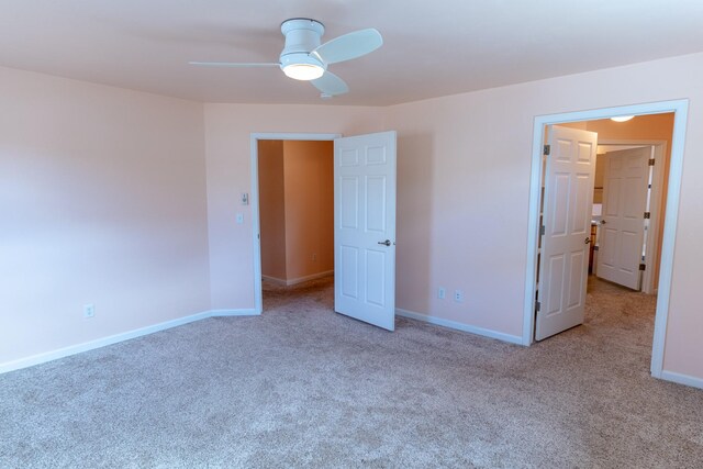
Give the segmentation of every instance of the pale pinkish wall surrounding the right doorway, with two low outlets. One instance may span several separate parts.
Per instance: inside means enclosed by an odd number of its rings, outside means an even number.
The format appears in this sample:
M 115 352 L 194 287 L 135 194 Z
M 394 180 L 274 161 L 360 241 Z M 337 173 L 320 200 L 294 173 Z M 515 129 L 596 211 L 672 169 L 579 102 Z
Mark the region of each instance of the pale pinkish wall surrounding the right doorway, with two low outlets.
M 531 152 L 537 115 L 690 100 L 665 370 L 703 378 L 703 55 L 389 108 L 399 132 L 399 308 L 522 333 Z M 651 136 L 651 135 L 650 135 Z M 465 303 L 438 300 L 462 289 Z

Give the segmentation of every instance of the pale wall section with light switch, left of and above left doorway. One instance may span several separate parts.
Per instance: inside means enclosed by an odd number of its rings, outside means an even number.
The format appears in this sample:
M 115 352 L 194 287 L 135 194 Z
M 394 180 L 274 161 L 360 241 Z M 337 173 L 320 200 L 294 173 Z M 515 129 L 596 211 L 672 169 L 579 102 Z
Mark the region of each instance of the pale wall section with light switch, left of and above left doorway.
M 252 133 L 355 135 L 383 126 L 383 110 L 341 105 L 205 104 L 208 225 L 213 309 L 254 308 L 254 245 L 250 206 L 238 203 L 252 190 Z M 242 212 L 244 224 L 232 214 Z

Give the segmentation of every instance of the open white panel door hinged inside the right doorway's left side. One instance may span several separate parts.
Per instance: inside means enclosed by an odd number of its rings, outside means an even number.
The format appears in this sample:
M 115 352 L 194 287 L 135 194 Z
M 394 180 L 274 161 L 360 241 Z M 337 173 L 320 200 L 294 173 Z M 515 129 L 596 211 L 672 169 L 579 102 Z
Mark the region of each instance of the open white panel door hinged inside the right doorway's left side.
M 547 130 L 535 339 L 583 323 L 598 134 Z

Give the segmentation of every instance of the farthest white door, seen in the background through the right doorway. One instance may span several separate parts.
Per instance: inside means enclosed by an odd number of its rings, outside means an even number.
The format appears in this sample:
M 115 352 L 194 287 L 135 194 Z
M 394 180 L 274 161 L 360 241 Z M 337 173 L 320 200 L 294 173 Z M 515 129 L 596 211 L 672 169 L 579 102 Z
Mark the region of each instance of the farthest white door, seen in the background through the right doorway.
M 596 275 L 638 290 L 651 147 L 605 155 Z

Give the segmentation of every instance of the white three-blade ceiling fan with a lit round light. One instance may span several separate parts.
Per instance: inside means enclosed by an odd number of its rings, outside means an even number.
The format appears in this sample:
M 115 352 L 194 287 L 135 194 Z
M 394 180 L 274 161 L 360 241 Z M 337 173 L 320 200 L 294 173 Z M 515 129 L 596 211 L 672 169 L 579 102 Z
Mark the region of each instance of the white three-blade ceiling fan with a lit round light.
M 292 18 L 281 23 L 286 45 L 279 62 L 252 64 L 190 62 L 189 64 L 210 67 L 280 67 L 286 76 L 295 80 L 310 81 L 320 90 L 322 98 L 331 98 L 348 92 L 349 87 L 342 78 L 327 70 L 327 66 L 369 54 L 383 44 L 383 38 L 375 29 L 368 29 L 344 34 L 320 44 L 324 32 L 325 26 L 319 21 Z

